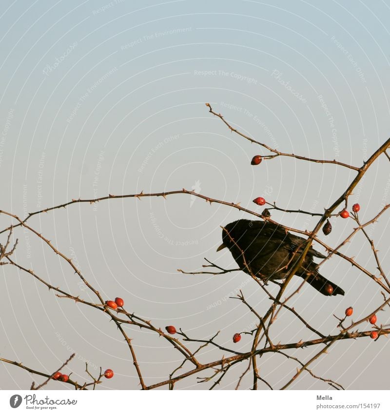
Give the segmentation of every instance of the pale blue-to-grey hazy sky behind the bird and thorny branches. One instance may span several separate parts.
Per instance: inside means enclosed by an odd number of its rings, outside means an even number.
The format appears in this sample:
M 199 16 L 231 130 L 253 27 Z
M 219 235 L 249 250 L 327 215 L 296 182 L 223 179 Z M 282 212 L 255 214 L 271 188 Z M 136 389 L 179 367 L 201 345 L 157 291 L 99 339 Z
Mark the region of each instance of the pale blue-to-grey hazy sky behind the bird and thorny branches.
M 322 213 L 355 173 L 335 165 L 274 158 L 252 167 L 261 147 L 230 133 L 205 102 L 234 127 L 279 151 L 336 159 L 360 167 L 390 131 L 390 1 L 1 1 L 0 6 L 0 209 L 19 217 L 72 198 L 162 192 L 186 188 L 205 196 L 252 203 L 262 196 L 278 206 Z M 382 156 L 350 197 L 367 221 L 389 203 L 388 160 Z M 338 210 L 337 210 L 338 211 Z M 270 300 L 242 272 L 187 276 L 204 257 L 235 267 L 228 251 L 216 253 L 221 225 L 249 214 L 188 195 L 76 204 L 38 215 L 29 224 L 52 240 L 104 298 L 120 296 L 125 308 L 157 327 L 175 325 L 188 335 L 238 351 L 254 318 L 239 301 L 241 288 L 261 314 Z M 317 220 L 274 212 L 273 219 L 302 230 Z M 0 215 L 1 229 L 9 217 Z M 331 246 L 347 237 L 351 219 L 332 218 L 320 238 Z M 389 271 L 389 214 L 369 228 L 383 269 Z M 55 286 L 91 297 L 69 265 L 38 237 L 15 229 L 14 259 Z M 4 244 L 6 235 L 0 236 Z M 324 253 L 319 245 L 315 246 Z M 358 235 L 341 251 L 378 274 L 367 240 Z M 321 273 L 345 296 L 325 297 L 310 286 L 291 306 L 324 333 L 337 333 L 333 314 L 353 306 L 354 320 L 383 297 L 367 276 L 338 257 Z M 300 283 L 293 278 L 287 292 Z M 270 286 L 275 293 L 276 286 Z M 11 266 L 1 266 L 0 356 L 52 373 L 72 352 L 72 378 L 86 378 L 84 361 L 116 375 L 100 389 L 137 389 L 127 346 L 114 323 L 82 304 L 55 296 Z M 214 305 L 214 306 L 213 306 Z M 378 315 L 389 323 L 389 311 Z M 369 329 L 370 325 L 361 325 Z M 178 353 L 154 334 L 128 329 L 149 385 L 180 364 Z M 312 338 L 283 312 L 273 342 Z M 308 360 L 319 348 L 292 355 Z M 206 348 L 203 361 L 220 358 Z M 225 355 L 226 356 L 226 355 Z M 347 389 L 389 389 L 388 338 L 339 341 L 312 370 Z M 266 355 L 260 374 L 275 388 L 296 364 Z M 246 364 L 226 375 L 234 389 Z M 0 365 L 1 389 L 29 389 L 39 381 Z M 207 389 L 189 378 L 178 389 Z M 242 388 L 251 386 L 251 375 Z M 63 389 L 50 382 L 46 388 Z M 65 386 L 66 387 L 66 386 Z M 260 385 L 263 387 L 263 385 Z M 301 375 L 292 389 L 329 389 Z

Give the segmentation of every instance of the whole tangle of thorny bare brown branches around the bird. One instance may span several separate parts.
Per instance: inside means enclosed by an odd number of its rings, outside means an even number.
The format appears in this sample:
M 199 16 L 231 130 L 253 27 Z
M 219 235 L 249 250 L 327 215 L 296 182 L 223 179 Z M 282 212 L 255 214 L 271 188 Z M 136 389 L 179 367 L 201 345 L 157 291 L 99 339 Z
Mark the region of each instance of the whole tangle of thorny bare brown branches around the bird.
M 53 210 L 57 210 L 60 208 L 65 208 L 67 206 L 77 204 L 77 203 L 97 203 L 102 202 L 105 200 L 110 199 L 116 199 L 116 198 L 127 198 L 127 197 L 136 197 L 138 199 L 141 199 L 142 197 L 167 197 L 173 194 L 184 194 L 184 195 L 191 195 L 195 197 L 199 197 L 204 199 L 206 202 L 217 203 L 217 204 L 223 204 L 230 208 L 237 209 L 241 212 L 249 213 L 253 216 L 260 217 L 264 220 L 269 220 L 275 224 L 279 224 L 270 217 L 269 214 L 265 214 L 263 212 L 262 214 L 258 214 L 252 210 L 246 209 L 239 205 L 239 203 L 236 202 L 228 202 L 224 200 L 215 199 L 212 197 L 207 197 L 202 194 L 195 193 L 194 191 L 189 191 L 186 189 L 176 190 L 176 191 L 170 191 L 170 192 L 161 192 L 161 193 L 143 193 L 142 191 L 138 194 L 127 194 L 127 195 L 112 195 L 109 194 L 106 197 L 100 197 L 100 198 L 92 198 L 92 199 L 72 199 L 69 202 L 53 206 L 50 208 L 46 208 L 44 210 L 39 210 L 33 213 L 30 213 L 27 215 L 24 219 L 21 219 L 20 217 L 9 213 L 5 211 L 0 210 L 0 214 L 6 215 L 10 217 L 10 220 L 12 221 L 12 224 L 0 231 L 0 234 L 4 233 L 7 234 L 7 240 L 4 245 L 0 244 L 0 265 L 11 265 L 13 267 L 18 268 L 20 271 L 27 273 L 29 276 L 34 277 L 37 279 L 42 285 L 45 285 L 50 290 L 53 290 L 56 293 L 56 296 L 63 298 L 63 299 L 72 299 L 75 302 L 82 303 L 85 306 L 89 306 L 94 308 L 96 311 L 100 311 L 102 313 L 108 314 L 111 318 L 111 320 L 115 323 L 117 326 L 117 329 L 119 330 L 120 334 L 125 339 L 125 342 L 128 347 L 129 351 L 129 357 L 132 359 L 137 376 L 139 378 L 139 385 L 142 390 L 151 390 L 154 388 L 159 388 L 166 386 L 169 389 L 173 390 L 175 387 L 176 382 L 196 376 L 196 379 L 198 382 L 207 382 L 211 381 L 212 385 L 210 389 L 214 389 L 218 384 L 221 383 L 221 380 L 223 377 L 229 372 L 229 370 L 234 367 L 236 364 L 244 363 L 245 368 L 243 369 L 242 374 L 239 378 L 237 378 L 236 383 L 236 389 L 239 388 L 241 380 L 244 378 L 245 375 L 250 374 L 253 376 L 253 389 L 256 390 L 258 388 L 258 382 L 263 382 L 267 387 L 270 389 L 273 389 L 272 385 L 267 381 L 266 378 L 263 378 L 259 375 L 259 370 L 257 367 L 259 358 L 261 358 L 262 355 L 266 355 L 268 353 L 278 354 L 282 355 L 283 357 L 294 360 L 297 365 L 297 370 L 294 375 L 281 387 L 281 389 L 288 388 L 292 382 L 294 382 L 299 375 L 301 375 L 304 372 L 309 373 L 314 378 L 318 380 L 325 381 L 328 383 L 331 387 L 334 387 L 336 389 L 343 389 L 342 385 L 338 384 L 337 382 L 323 378 L 320 375 L 316 375 L 312 372 L 312 370 L 309 368 L 313 361 L 315 361 L 319 356 L 325 354 L 328 352 L 329 348 L 331 348 L 332 345 L 334 345 L 337 341 L 344 340 L 344 339 L 356 339 L 366 336 L 372 336 L 373 332 L 376 332 L 377 338 L 375 340 L 378 340 L 379 337 L 382 335 L 387 335 L 390 333 L 390 329 L 388 329 L 386 326 L 378 326 L 373 325 L 373 328 L 371 330 L 359 330 L 359 325 L 361 325 L 363 322 L 366 322 L 370 315 L 375 314 L 381 310 L 384 310 L 386 306 L 390 306 L 390 283 L 388 277 L 385 275 L 385 272 L 382 269 L 380 260 L 377 255 L 377 249 L 374 244 L 374 241 L 370 238 L 369 234 L 366 231 L 366 227 L 374 223 L 378 218 L 386 212 L 386 210 L 390 207 L 390 204 L 384 206 L 382 210 L 380 210 L 374 217 L 372 217 L 370 220 L 368 220 L 365 223 L 361 223 L 358 217 L 357 213 L 352 213 L 351 218 L 355 221 L 356 227 L 353 229 L 350 235 L 348 235 L 338 246 L 331 247 L 324 243 L 322 240 L 320 240 L 317 237 L 317 233 L 323 226 L 326 220 L 328 220 L 330 217 L 338 216 L 341 211 L 336 212 L 336 209 L 344 204 L 344 207 L 342 209 L 348 208 L 348 198 L 351 196 L 352 191 L 354 187 L 357 185 L 357 183 L 361 180 L 361 178 L 364 176 L 364 174 L 367 172 L 367 170 L 370 168 L 370 166 L 373 164 L 373 162 L 378 158 L 380 155 L 384 154 L 387 158 L 390 157 L 386 153 L 387 148 L 390 146 L 390 139 L 388 139 L 377 151 L 375 151 L 371 157 L 363 163 L 361 167 L 356 167 L 348 164 L 344 164 L 342 162 L 338 162 L 335 160 L 321 160 L 321 159 L 313 159 L 313 158 L 306 158 L 302 156 L 298 156 L 295 154 L 288 154 L 288 153 L 282 153 L 280 151 L 277 151 L 276 149 L 271 148 L 265 143 L 259 142 L 254 140 L 253 138 L 250 138 L 249 136 L 241 133 L 237 129 L 233 128 L 233 126 L 225 120 L 225 118 L 221 115 L 216 113 L 210 104 L 206 104 L 209 108 L 209 112 L 211 112 L 213 115 L 215 115 L 217 118 L 220 118 L 227 127 L 234 133 L 238 134 L 242 138 L 248 139 L 249 141 L 258 144 L 260 147 L 262 147 L 264 150 L 268 151 L 268 154 L 263 155 L 263 159 L 272 159 L 276 157 L 293 157 L 300 160 L 308 161 L 308 162 L 316 162 L 316 163 L 329 163 L 329 164 L 336 164 L 344 168 L 348 168 L 350 170 L 356 171 L 356 177 L 352 180 L 351 184 L 348 186 L 348 188 L 343 192 L 340 197 L 338 197 L 330 207 L 328 207 L 323 213 L 312 213 L 304 210 L 289 210 L 286 208 L 281 208 L 276 205 L 276 203 L 267 203 L 267 210 L 268 213 L 269 210 L 280 210 L 283 212 L 289 212 L 289 213 L 297 213 L 297 214 L 306 214 L 311 215 L 313 217 L 319 217 L 317 224 L 315 225 L 314 229 L 312 231 L 307 230 L 301 230 L 301 229 L 295 229 L 292 227 L 286 227 L 283 226 L 286 230 L 292 231 L 298 234 L 305 235 L 307 237 L 307 242 L 305 243 L 305 246 L 303 248 L 303 252 L 300 255 L 299 260 L 295 263 L 291 271 L 289 272 L 289 275 L 287 278 L 283 281 L 283 283 L 279 284 L 279 290 L 275 296 L 273 296 L 269 290 L 267 289 L 267 285 L 264 284 L 262 280 L 259 280 L 256 278 L 253 274 L 252 279 L 254 283 L 257 283 L 260 288 L 265 292 L 265 294 L 271 299 L 272 304 L 265 312 L 264 315 L 260 315 L 252 306 L 251 304 L 246 300 L 243 293 L 240 291 L 239 295 L 235 296 L 235 299 L 238 299 L 242 302 L 243 305 L 245 305 L 251 314 L 254 317 L 255 322 L 255 329 L 249 332 L 242 332 L 241 334 L 248 334 L 253 336 L 252 346 L 250 349 L 248 349 L 247 352 L 237 352 L 234 349 L 226 348 L 225 346 L 222 346 L 218 343 L 217 336 L 219 332 L 215 333 L 211 338 L 207 339 L 199 339 L 199 338 L 192 338 L 189 335 L 187 335 L 183 330 L 179 330 L 175 336 L 170 335 L 166 332 L 164 332 L 162 329 L 157 327 L 152 321 L 146 320 L 145 318 L 141 317 L 140 315 L 136 315 L 135 312 L 128 311 L 125 308 L 118 308 L 116 310 L 111 309 L 107 306 L 106 300 L 104 297 L 100 295 L 98 290 L 90 284 L 88 281 L 88 278 L 86 275 L 81 274 L 79 269 L 75 266 L 75 264 L 72 262 L 72 259 L 66 256 L 63 252 L 59 251 L 57 247 L 46 237 L 44 237 L 42 234 L 40 234 L 37 230 L 35 230 L 33 227 L 29 226 L 28 220 L 35 216 L 42 213 L 48 213 Z M 280 225 L 280 224 L 279 224 Z M 43 277 L 39 276 L 37 273 L 34 272 L 32 269 L 28 269 L 24 267 L 22 264 L 17 263 L 13 259 L 13 253 L 15 252 L 15 249 L 17 247 L 18 240 L 15 241 L 15 243 L 11 246 L 11 238 L 13 235 L 14 230 L 17 227 L 23 228 L 25 231 L 31 232 L 35 237 L 38 237 L 39 239 L 44 242 L 44 244 L 47 245 L 47 247 L 55 254 L 59 255 L 73 270 L 73 272 L 78 276 L 79 279 L 85 284 L 85 286 L 94 294 L 96 297 L 96 302 L 92 302 L 90 300 L 87 300 L 80 296 L 73 296 L 69 292 L 67 292 L 64 289 L 61 289 L 59 287 L 51 285 L 47 280 L 45 280 Z M 353 257 L 349 257 L 344 255 L 340 252 L 340 248 L 344 246 L 347 242 L 351 240 L 352 237 L 354 237 L 358 232 L 362 232 L 364 236 L 367 239 L 368 244 L 370 245 L 370 248 L 372 250 L 372 255 L 375 258 L 376 265 L 377 265 L 377 272 L 374 273 L 370 272 L 370 270 L 363 267 L 361 264 L 358 263 L 358 261 L 355 260 Z M 295 309 L 291 306 L 289 306 L 289 302 L 291 301 L 291 298 L 295 296 L 299 290 L 302 284 L 298 289 L 296 289 L 292 294 L 290 294 L 288 297 L 283 298 L 283 294 L 292 278 L 292 276 L 295 274 L 297 269 L 301 266 L 306 254 L 308 253 L 310 246 L 313 241 L 318 242 L 328 252 L 328 256 L 323 259 L 323 261 L 319 264 L 321 265 L 324 261 L 329 260 L 333 255 L 337 255 L 341 257 L 342 259 L 349 262 L 352 266 L 359 269 L 362 273 L 364 273 L 366 276 L 370 277 L 375 283 L 377 283 L 381 289 L 381 294 L 383 296 L 383 301 L 378 304 L 376 309 L 372 309 L 370 314 L 366 317 L 359 319 L 357 321 L 352 321 L 348 325 L 346 325 L 346 318 L 337 318 L 338 324 L 337 328 L 339 328 L 339 332 L 336 335 L 327 335 L 325 333 L 319 332 L 315 327 L 313 327 L 308 321 L 306 321 L 301 315 L 298 314 L 298 312 L 295 311 Z M 178 269 L 179 272 L 183 274 L 210 274 L 210 275 L 220 275 L 225 274 L 228 272 L 234 272 L 239 269 L 223 269 L 220 266 L 218 266 L 215 263 L 212 263 L 211 261 L 207 260 L 208 264 L 203 265 L 204 268 L 207 268 L 208 270 L 203 270 L 200 272 L 184 272 L 181 269 Z M 376 275 L 375 275 L 376 274 Z M 271 335 L 270 335 L 270 327 L 273 325 L 276 317 L 280 313 L 282 309 L 286 309 L 288 312 L 290 312 L 298 323 L 303 324 L 306 328 L 308 328 L 310 331 L 312 331 L 313 334 L 315 334 L 314 339 L 308 339 L 308 340 L 299 340 L 298 342 L 294 343 L 278 343 L 275 344 L 272 341 Z M 152 331 L 156 335 L 162 336 L 180 355 L 181 355 L 181 363 L 176 367 L 175 370 L 173 370 L 170 374 L 167 375 L 166 379 L 154 384 L 147 384 L 145 382 L 145 379 L 142 375 L 142 367 L 137 362 L 137 355 L 135 352 L 135 349 L 132 345 L 132 339 L 128 336 L 127 327 L 133 326 L 138 327 L 139 332 L 141 332 L 141 329 Z M 201 361 L 198 357 L 199 352 L 204 349 L 205 347 L 214 347 L 215 349 L 219 350 L 221 352 L 221 356 L 214 360 L 214 361 L 208 361 L 204 362 Z M 307 348 L 307 347 L 318 347 L 318 352 L 311 358 L 309 358 L 306 361 L 302 361 L 295 356 L 289 355 L 288 350 L 296 350 L 299 348 Z M 227 356 L 225 356 L 227 355 Z M 37 370 L 34 370 L 26 365 L 21 364 L 20 362 L 12 361 L 5 358 L 0 358 L 0 361 L 3 361 L 4 363 L 9 363 L 13 365 L 17 365 L 23 370 L 26 370 L 32 374 L 40 375 L 42 377 L 45 377 L 43 383 L 41 383 L 38 386 L 35 386 L 35 383 L 32 384 L 31 389 L 39 389 L 42 386 L 46 385 L 48 381 L 53 379 L 53 375 L 58 372 L 60 369 L 62 369 L 74 356 L 71 355 L 67 361 L 64 362 L 64 364 L 59 368 L 54 370 L 52 373 L 46 373 L 46 372 L 39 372 Z M 97 377 L 94 377 L 91 375 L 91 373 L 88 371 L 88 364 L 86 364 L 86 372 L 90 376 L 91 380 L 88 382 L 84 382 L 82 384 L 79 384 L 77 381 L 74 381 L 71 377 L 67 380 L 68 384 L 71 384 L 76 390 L 86 390 L 86 389 L 95 389 L 96 385 L 101 382 L 102 377 L 104 374 L 102 373 L 100 369 L 100 373 Z M 198 375 L 204 375 L 203 377 L 199 377 Z

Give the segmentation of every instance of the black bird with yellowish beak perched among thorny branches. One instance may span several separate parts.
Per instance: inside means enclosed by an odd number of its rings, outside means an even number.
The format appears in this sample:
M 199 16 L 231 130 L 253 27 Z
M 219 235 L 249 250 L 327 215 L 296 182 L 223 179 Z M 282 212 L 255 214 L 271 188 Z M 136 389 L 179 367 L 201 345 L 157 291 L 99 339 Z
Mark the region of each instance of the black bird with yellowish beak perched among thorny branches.
M 303 252 L 306 239 L 269 221 L 241 219 L 225 226 L 222 241 L 217 252 L 227 247 L 241 270 L 268 281 L 287 277 Z M 326 257 L 310 247 L 295 275 L 306 279 L 323 295 L 344 295 L 343 289 L 318 273 L 313 256 Z

